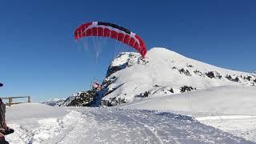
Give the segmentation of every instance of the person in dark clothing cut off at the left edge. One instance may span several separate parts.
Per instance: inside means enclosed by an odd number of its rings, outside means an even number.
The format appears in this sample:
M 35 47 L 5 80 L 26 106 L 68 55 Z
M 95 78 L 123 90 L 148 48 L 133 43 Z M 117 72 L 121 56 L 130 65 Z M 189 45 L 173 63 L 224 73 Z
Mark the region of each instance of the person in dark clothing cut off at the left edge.
M 3 84 L 0 83 L 0 87 L 2 87 Z M 8 127 L 6 125 L 6 105 L 2 102 L 2 99 L 0 98 L 0 144 L 9 144 L 9 142 L 6 142 L 5 135 L 1 132 L 4 130 L 7 130 Z

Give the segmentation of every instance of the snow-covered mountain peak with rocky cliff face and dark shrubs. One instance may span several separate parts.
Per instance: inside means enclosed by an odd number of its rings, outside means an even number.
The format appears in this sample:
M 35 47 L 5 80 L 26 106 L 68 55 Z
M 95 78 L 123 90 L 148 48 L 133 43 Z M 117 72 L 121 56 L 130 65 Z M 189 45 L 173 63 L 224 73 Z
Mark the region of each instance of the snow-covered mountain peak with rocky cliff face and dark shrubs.
M 115 106 L 215 86 L 255 86 L 255 82 L 255 74 L 212 66 L 165 48 L 152 48 L 144 60 L 137 53 L 122 53 L 114 58 L 102 82 L 102 104 Z

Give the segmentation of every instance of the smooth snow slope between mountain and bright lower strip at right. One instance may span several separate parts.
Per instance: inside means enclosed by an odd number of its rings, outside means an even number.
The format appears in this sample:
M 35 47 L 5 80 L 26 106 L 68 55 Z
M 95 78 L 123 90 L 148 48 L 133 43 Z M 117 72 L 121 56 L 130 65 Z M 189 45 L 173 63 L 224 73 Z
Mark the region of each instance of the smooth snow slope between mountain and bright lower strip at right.
M 147 98 L 122 106 L 143 110 L 175 110 L 197 114 L 256 115 L 256 88 L 249 86 L 219 86 L 189 93 Z

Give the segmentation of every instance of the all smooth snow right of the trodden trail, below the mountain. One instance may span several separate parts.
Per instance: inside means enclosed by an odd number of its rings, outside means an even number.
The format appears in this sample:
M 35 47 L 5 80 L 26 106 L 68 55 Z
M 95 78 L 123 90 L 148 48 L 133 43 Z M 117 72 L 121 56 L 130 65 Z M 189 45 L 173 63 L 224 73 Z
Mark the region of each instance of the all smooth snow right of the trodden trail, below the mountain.
M 175 111 L 256 142 L 256 88 L 219 86 L 184 94 L 146 98 L 120 107 L 140 110 Z

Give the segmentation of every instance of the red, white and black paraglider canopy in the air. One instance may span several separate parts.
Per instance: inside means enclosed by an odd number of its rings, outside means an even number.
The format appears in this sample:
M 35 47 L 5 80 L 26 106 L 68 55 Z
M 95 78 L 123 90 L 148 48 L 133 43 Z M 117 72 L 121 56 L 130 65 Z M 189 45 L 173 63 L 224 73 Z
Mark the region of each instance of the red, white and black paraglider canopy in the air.
M 146 45 L 142 41 L 142 38 L 122 26 L 108 22 L 89 22 L 79 26 L 74 32 L 75 39 L 87 36 L 114 38 L 119 42 L 134 47 L 134 49 L 138 50 L 138 52 L 142 54 L 142 57 L 145 58 Z

